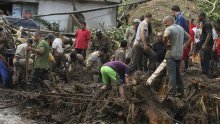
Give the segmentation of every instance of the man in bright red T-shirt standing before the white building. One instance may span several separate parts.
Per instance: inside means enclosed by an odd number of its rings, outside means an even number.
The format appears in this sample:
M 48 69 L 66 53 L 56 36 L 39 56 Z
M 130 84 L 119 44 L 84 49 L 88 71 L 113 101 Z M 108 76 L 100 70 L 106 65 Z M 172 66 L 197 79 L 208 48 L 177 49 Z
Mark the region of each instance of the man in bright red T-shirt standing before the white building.
M 86 50 L 90 42 L 90 31 L 86 28 L 86 22 L 81 22 L 81 29 L 76 31 L 75 50 L 76 53 L 86 58 Z

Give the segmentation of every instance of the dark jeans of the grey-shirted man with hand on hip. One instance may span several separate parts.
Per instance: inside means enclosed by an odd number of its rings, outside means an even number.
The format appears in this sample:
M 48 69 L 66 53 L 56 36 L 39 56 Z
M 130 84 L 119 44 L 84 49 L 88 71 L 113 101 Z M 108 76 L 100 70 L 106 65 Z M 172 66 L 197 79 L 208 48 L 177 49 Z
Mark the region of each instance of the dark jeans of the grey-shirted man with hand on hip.
M 172 96 L 176 95 L 176 92 L 184 94 L 183 81 L 180 75 L 180 63 L 181 60 L 175 60 L 173 58 L 166 59 L 166 67 L 168 71 L 169 83 L 172 85 L 170 90 Z

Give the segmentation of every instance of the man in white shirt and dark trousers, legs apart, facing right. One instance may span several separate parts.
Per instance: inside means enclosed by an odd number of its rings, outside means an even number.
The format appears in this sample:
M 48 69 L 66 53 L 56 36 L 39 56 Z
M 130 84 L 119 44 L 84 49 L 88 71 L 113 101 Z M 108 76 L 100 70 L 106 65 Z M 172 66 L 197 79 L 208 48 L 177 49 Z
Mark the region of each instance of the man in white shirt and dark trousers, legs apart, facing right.
M 133 55 L 131 59 L 131 71 L 142 70 L 142 59 L 145 55 L 148 59 L 149 73 L 153 73 L 156 68 L 156 55 L 149 45 L 148 23 L 152 18 L 151 13 L 145 15 L 145 19 L 139 24 L 134 41 Z

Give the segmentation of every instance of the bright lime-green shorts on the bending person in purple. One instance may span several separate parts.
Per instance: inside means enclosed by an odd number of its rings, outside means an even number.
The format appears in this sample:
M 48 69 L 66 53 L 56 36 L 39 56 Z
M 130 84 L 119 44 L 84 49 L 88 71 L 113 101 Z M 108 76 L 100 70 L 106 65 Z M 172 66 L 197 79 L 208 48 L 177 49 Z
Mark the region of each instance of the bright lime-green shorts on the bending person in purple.
M 118 73 L 109 66 L 101 67 L 102 81 L 105 85 L 108 85 L 111 82 L 114 82 L 116 85 L 123 83 L 123 80 L 120 79 Z

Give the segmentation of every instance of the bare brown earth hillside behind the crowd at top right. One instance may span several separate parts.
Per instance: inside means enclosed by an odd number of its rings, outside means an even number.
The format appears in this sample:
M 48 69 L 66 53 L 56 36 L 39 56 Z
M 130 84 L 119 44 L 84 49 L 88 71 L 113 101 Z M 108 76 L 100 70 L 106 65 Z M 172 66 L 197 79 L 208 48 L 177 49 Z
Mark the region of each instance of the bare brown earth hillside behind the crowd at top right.
M 184 12 L 185 17 L 189 20 L 190 18 L 197 19 L 199 14 L 199 7 L 195 3 L 188 0 L 152 0 L 137 6 L 135 9 L 129 11 L 129 22 L 134 19 L 139 18 L 146 12 L 151 12 L 153 14 L 153 26 L 155 31 L 163 31 L 162 20 L 165 16 L 171 15 L 172 5 L 179 5 L 182 12 Z M 161 28 L 163 27 L 163 28 Z

